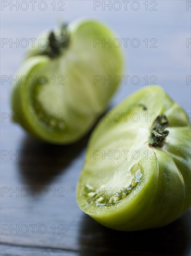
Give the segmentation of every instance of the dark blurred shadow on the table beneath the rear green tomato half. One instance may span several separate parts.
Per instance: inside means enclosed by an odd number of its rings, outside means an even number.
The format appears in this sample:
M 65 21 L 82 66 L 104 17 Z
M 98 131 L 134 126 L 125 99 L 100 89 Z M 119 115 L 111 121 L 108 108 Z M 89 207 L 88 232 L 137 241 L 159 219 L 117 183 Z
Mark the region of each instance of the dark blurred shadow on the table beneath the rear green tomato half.
M 53 145 L 27 135 L 19 150 L 19 172 L 26 185 L 42 187 L 64 172 L 86 147 L 89 135 L 70 145 Z

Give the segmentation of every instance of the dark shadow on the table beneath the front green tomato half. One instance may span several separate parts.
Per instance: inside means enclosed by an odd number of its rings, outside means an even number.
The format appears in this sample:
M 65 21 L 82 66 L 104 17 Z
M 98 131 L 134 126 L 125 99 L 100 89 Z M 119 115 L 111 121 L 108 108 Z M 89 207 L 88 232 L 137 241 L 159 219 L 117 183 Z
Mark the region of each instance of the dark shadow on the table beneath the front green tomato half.
M 102 227 L 83 215 L 79 233 L 81 255 L 181 255 L 191 249 L 191 210 L 159 229 L 122 232 Z

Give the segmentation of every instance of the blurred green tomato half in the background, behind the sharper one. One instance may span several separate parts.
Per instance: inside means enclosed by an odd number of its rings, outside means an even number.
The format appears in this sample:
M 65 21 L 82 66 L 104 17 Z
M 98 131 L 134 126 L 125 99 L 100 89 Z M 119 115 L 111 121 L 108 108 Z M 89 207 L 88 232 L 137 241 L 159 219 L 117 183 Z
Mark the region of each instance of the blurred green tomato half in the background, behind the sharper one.
M 19 123 L 57 144 L 75 142 L 93 126 L 119 86 L 112 78 L 121 76 L 123 62 L 120 48 L 103 45 L 115 36 L 102 24 L 75 21 L 66 30 L 64 46 L 59 29 L 54 32 L 56 52 L 39 46 L 29 51 L 18 74 L 26 79 L 19 79 L 12 93 Z

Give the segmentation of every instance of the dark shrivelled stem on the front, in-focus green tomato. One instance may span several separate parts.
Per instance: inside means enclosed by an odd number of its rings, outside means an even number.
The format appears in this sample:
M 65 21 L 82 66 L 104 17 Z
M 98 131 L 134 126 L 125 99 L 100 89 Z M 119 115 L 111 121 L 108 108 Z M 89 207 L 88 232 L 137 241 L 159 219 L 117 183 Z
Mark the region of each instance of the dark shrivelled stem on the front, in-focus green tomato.
M 149 137 L 149 145 L 153 147 L 161 147 L 162 142 L 168 136 L 169 131 L 165 130 L 168 127 L 168 119 L 166 115 L 158 116 L 151 128 L 151 135 Z

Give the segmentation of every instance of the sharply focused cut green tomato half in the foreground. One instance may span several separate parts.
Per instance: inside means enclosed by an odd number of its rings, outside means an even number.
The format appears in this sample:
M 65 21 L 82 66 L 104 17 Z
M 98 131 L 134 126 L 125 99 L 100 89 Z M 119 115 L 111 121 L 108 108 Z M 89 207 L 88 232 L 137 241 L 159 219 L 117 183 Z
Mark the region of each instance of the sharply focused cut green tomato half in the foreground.
M 191 206 L 190 186 L 191 125 L 162 88 L 150 86 L 100 120 L 76 198 L 86 214 L 108 228 L 152 229 Z

